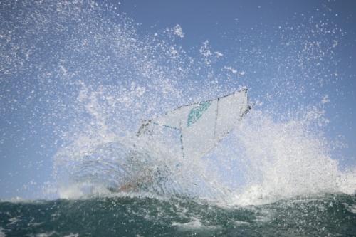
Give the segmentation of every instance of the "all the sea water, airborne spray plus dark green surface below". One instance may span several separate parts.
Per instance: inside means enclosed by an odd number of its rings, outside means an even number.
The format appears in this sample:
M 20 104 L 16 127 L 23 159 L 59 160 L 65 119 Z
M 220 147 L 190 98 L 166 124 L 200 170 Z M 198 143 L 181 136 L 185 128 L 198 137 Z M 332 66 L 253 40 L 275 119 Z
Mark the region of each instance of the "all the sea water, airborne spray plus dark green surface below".
M 308 16 L 303 30 L 236 31 L 229 50 L 189 51 L 181 26 L 142 33 L 97 1 L 7 1 L 1 12 L 4 91 L 21 91 L 4 94 L 4 111 L 31 107 L 33 130 L 58 143 L 41 198 L 1 200 L 0 236 L 356 235 L 356 172 L 325 137 L 333 95 L 315 92 L 332 83 L 322 74 L 337 65 L 337 26 Z M 175 135 L 137 137 L 141 119 L 244 87 L 253 110 L 199 160 L 180 155 Z

